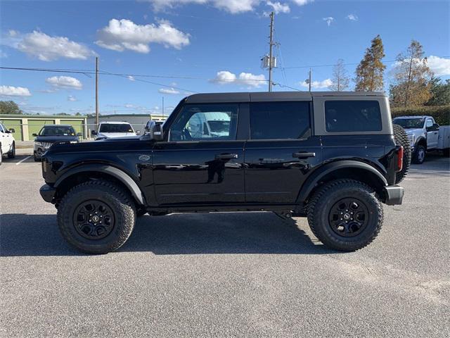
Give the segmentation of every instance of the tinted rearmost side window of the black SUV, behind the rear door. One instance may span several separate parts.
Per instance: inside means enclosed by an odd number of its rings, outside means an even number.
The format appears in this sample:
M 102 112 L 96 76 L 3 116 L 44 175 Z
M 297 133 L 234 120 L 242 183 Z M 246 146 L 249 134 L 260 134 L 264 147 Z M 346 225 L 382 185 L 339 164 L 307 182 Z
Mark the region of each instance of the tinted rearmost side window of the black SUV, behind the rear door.
M 327 132 L 377 132 L 383 129 L 378 101 L 325 101 Z

